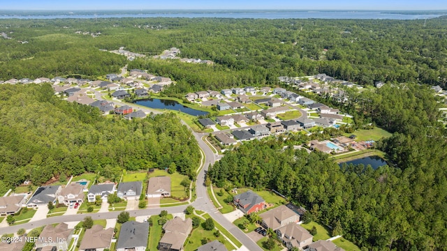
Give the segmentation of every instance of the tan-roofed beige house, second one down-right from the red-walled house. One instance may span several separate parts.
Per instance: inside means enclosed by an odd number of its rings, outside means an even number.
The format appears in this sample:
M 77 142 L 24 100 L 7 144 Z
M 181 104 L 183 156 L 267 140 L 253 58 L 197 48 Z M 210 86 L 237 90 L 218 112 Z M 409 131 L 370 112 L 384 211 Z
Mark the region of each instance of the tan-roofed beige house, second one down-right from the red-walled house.
M 312 244 L 312 238 L 314 237 L 304 227 L 295 223 L 279 227 L 275 232 L 289 250 L 294 247 L 302 250 L 307 245 Z

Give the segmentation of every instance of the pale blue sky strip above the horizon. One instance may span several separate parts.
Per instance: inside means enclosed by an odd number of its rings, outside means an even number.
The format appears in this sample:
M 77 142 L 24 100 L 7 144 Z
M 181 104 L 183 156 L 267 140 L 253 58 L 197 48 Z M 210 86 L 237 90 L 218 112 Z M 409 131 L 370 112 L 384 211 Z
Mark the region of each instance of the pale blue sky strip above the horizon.
M 447 10 L 446 0 L 1 0 L 2 10 Z

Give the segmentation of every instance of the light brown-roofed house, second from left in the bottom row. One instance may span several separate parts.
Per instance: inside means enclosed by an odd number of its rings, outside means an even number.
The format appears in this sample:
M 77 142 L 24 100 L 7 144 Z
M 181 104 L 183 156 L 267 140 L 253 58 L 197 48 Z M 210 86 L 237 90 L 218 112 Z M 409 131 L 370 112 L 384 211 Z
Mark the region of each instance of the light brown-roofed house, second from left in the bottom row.
M 73 229 L 69 229 L 64 222 L 59 223 L 56 227 L 46 225 L 36 241 L 36 251 L 52 250 L 48 249 L 48 246 L 55 247 L 54 250 L 66 251 L 71 243 L 72 234 Z

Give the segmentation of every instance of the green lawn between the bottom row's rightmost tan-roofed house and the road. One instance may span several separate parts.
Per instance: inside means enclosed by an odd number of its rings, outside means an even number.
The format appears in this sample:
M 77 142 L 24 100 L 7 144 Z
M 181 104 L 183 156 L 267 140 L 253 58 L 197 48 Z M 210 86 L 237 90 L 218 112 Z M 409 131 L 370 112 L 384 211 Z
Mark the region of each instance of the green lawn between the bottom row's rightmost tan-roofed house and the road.
M 217 230 L 213 229 L 212 231 L 207 231 L 207 230 L 203 229 L 202 224 L 201 224 L 202 222 L 205 222 L 205 220 L 201 220 L 200 225 L 196 229 L 193 229 L 189 238 L 186 239 L 186 243 L 184 244 L 185 251 L 197 250 L 197 248 L 202 245 L 201 240 L 204 237 L 208 238 L 209 241 L 214 241 L 214 240 L 220 241 L 221 243 L 223 243 L 226 246 L 226 248 L 228 250 L 235 249 L 235 247 L 233 245 L 231 245 L 231 243 L 229 241 L 227 241 L 226 238 L 224 238 L 222 235 L 220 235 L 219 237 L 214 236 L 214 232 Z

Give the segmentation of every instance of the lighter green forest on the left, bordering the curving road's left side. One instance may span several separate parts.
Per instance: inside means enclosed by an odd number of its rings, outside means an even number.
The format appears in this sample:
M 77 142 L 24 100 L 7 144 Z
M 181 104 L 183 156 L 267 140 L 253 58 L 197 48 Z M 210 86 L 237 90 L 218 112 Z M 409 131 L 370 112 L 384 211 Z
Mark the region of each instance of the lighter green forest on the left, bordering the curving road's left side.
M 54 96 L 49 84 L 0 86 L 0 193 L 31 180 L 122 169 L 177 167 L 194 177 L 200 153 L 174 114 L 127 121 L 105 119 L 96 107 Z

